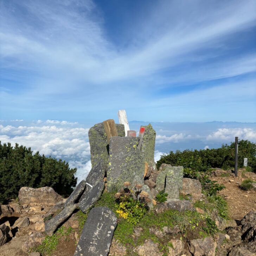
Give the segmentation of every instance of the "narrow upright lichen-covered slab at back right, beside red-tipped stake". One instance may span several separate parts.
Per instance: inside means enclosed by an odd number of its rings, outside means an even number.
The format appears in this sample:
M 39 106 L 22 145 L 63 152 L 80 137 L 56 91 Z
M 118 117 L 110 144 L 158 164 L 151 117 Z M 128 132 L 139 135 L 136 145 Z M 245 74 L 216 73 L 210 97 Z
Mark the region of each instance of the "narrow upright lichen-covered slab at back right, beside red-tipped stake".
M 148 124 L 145 127 L 145 132 L 142 139 L 141 144 L 141 154 L 142 158 L 145 162 L 148 163 L 149 167 L 153 167 L 155 160 L 154 160 L 154 153 L 155 153 L 155 136 L 156 132 L 153 129 L 151 124 Z

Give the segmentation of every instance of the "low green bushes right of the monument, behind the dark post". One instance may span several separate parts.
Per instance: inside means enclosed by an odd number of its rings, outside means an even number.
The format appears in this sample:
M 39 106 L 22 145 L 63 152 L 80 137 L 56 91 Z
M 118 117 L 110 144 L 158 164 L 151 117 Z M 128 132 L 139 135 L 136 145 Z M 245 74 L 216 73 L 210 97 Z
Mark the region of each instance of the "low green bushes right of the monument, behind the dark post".
M 248 163 L 252 171 L 256 172 L 256 143 L 248 140 L 240 140 L 238 143 L 238 167 L 243 167 L 244 158 L 248 158 Z M 212 168 L 229 169 L 235 166 L 235 142 L 230 145 L 223 144 L 221 148 L 190 150 L 186 149 L 175 153 L 171 151 L 167 155 L 162 155 L 156 163 L 157 168 L 162 163 L 175 166 L 183 166 L 196 171 L 207 171 Z

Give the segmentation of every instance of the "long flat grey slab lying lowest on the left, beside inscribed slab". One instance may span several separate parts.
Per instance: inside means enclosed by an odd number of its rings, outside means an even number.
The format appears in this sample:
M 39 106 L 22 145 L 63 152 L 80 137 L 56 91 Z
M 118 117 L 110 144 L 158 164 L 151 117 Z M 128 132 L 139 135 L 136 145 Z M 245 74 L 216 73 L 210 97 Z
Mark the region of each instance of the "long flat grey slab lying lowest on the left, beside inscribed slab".
M 58 226 L 66 220 L 73 211 L 75 211 L 77 205 L 69 205 L 65 207 L 58 215 L 45 222 L 45 232 L 47 235 L 52 236 Z

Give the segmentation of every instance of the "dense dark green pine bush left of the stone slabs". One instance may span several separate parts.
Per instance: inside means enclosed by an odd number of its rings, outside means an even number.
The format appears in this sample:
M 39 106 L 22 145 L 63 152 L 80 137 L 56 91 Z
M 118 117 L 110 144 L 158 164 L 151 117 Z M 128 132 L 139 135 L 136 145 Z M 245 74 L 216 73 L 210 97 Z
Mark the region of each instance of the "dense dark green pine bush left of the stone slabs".
M 55 158 L 47 158 L 31 148 L 15 147 L 0 141 L 0 203 L 17 198 L 21 187 L 52 187 L 61 195 L 69 195 L 76 185 L 76 168 Z

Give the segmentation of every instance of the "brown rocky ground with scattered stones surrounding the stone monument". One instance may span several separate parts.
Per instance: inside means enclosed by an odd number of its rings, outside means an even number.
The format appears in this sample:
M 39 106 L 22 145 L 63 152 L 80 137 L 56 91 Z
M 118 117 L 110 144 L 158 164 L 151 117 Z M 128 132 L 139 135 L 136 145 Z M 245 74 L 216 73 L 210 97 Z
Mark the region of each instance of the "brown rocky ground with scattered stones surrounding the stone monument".
M 255 256 L 256 252 L 256 191 L 243 191 L 239 188 L 241 182 L 246 178 L 256 180 L 256 174 L 247 173 L 243 170 L 238 172 L 238 177 L 234 177 L 231 171 L 216 169 L 212 172 L 212 180 L 225 185 L 220 194 L 225 196 L 229 206 L 229 216 L 231 220 L 224 223 L 221 227 L 224 231 L 218 233 L 214 239 L 207 237 L 205 239 L 196 238 L 193 234 L 188 234 L 190 240 L 184 243 L 181 241 L 180 230 L 175 228 L 170 230 L 164 227 L 161 230 L 151 229 L 150 232 L 160 237 L 166 242 L 172 242 L 174 249 L 169 247 L 168 256 Z M 151 179 L 146 183 L 150 186 L 154 184 L 154 173 Z M 192 194 L 193 200 L 199 199 L 200 184 L 198 181 L 183 179 L 183 192 Z M 23 192 L 22 192 L 23 191 Z M 4 241 L 0 233 L 0 256 L 27 256 L 30 248 L 41 244 L 46 237 L 45 222 L 50 213 L 58 215 L 63 210 L 66 199 L 60 197 L 51 188 L 40 188 L 31 197 L 30 188 L 25 188 L 19 194 L 19 202 L 13 201 L 9 205 L 1 205 L 0 229 L 7 233 L 7 240 Z M 203 197 L 202 197 L 203 198 Z M 56 207 L 57 206 L 57 207 Z M 164 212 L 166 209 L 183 209 L 193 211 L 193 205 L 184 200 L 180 203 L 158 204 L 154 209 L 155 214 Z M 197 209 L 201 211 L 201 209 Z M 80 211 L 81 212 L 81 211 Z M 246 215 L 246 216 L 245 216 Z M 57 250 L 51 251 L 52 256 L 73 256 L 76 245 L 81 234 L 81 218 L 79 219 L 78 209 L 73 211 L 72 216 L 62 225 L 65 229 L 62 233 L 56 233 L 59 236 Z M 84 222 L 82 222 L 84 224 Z M 69 232 L 68 229 L 72 228 Z M 0 230 L 0 231 L 1 231 Z M 133 237 L 140 236 L 142 228 L 135 228 Z M 136 246 L 133 253 L 137 255 L 164 255 L 159 251 L 158 244 L 147 239 L 142 245 Z M 135 255 L 133 254 L 133 255 Z M 30 254 L 33 255 L 33 254 Z M 38 256 L 40 254 L 34 254 Z M 126 248 L 113 240 L 110 247 L 111 256 L 124 256 L 127 254 Z

